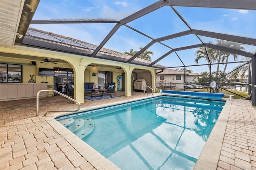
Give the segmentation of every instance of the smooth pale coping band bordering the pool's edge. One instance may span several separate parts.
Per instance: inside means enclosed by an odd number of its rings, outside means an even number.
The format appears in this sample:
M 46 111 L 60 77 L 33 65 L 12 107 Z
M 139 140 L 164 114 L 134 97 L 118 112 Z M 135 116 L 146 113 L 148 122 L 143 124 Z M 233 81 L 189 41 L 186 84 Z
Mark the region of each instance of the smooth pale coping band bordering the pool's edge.
M 159 94 L 154 97 L 162 96 L 162 95 L 170 95 L 170 94 Z M 172 95 L 170 95 L 172 96 Z M 132 101 L 138 101 L 142 99 L 152 98 L 152 96 L 144 96 L 137 99 L 130 99 L 125 102 L 114 102 L 108 103 L 98 107 L 88 107 L 86 109 L 82 109 L 81 111 L 88 111 L 92 109 L 99 109 L 103 107 L 108 107 L 112 105 L 118 105 L 122 103 L 129 103 Z M 218 100 L 218 99 L 217 99 Z M 200 170 L 202 168 L 208 169 L 217 169 L 218 167 L 218 160 L 220 157 L 220 151 L 222 148 L 222 142 L 224 139 L 224 134 L 226 131 L 226 125 L 228 122 L 229 111 L 231 108 L 232 101 L 223 99 L 226 101 L 216 124 L 214 125 L 212 132 L 210 133 L 208 140 L 206 141 L 204 148 L 202 149 L 196 164 L 194 165 L 193 170 Z M 224 114 L 226 112 L 226 114 Z M 79 154 L 81 154 L 94 168 L 96 169 L 116 169 L 120 170 L 118 166 L 113 164 L 110 160 L 105 158 L 102 154 L 97 152 L 94 148 L 89 146 L 86 142 L 80 139 L 78 136 L 73 134 L 70 130 L 66 127 L 61 125 L 58 121 L 55 120 L 56 117 L 60 117 L 63 115 L 68 115 L 70 113 L 51 113 L 45 117 L 45 121 L 51 125 L 71 146 L 73 146 Z M 221 127 L 221 128 L 220 128 Z M 220 128 L 220 129 L 219 129 Z M 83 147 L 81 147 L 83 146 Z M 217 147 L 216 147 L 217 146 Z M 209 152 L 210 151 L 210 152 Z

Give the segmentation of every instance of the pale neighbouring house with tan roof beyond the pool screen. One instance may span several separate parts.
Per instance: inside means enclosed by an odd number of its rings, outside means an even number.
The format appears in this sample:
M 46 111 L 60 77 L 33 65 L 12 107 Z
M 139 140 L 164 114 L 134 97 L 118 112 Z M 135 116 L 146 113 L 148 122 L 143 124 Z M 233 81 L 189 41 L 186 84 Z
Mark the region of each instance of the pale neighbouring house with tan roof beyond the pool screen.
M 164 69 L 156 71 L 156 84 L 166 83 L 166 87 L 170 86 L 170 83 L 177 83 L 177 88 L 184 87 L 184 72 L 173 70 L 173 69 Z M 188 73 L 186 72 L 186 80 L 185 82 L 193 82 L 193 79 L 198 73 Z

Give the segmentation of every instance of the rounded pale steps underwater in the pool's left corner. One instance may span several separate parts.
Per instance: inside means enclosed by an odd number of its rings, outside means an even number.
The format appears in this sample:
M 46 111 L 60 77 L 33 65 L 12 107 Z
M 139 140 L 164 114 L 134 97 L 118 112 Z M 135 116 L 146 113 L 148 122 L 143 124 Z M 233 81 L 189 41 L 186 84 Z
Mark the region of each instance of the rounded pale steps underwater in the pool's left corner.
M 60 120 L 59 123 L 68 128 L 68 130 L 76 134 L 76 136 L 81 139 L 90 134 L 94 129 L 94 122 L 92 119 L 68 118 Z

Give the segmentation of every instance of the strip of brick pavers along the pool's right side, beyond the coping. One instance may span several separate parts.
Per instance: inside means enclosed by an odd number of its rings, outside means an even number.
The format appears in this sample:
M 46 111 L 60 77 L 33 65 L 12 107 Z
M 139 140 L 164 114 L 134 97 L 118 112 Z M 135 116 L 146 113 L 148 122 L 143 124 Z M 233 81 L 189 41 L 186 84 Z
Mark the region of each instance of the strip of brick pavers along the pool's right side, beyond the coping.
M 256 170 L 256 110 L 247 100 L 232 100 L 218 170 Z

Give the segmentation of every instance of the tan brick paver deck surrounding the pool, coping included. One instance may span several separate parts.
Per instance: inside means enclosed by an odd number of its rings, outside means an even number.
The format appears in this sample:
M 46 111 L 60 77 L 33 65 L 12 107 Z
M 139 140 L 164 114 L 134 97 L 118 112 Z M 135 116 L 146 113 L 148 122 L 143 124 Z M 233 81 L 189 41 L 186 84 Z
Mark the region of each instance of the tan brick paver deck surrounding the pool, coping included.
M 86 100 L 81 110 L 145 98 L 139 92 L 117 95 L 121 97 Z M 36 99 L 0 102 L 1 170 L 118 169 L 56 122 L 60 113 L 43 116 L 49 110 L 76 110 L 72 101 L 54 96 L 39 104 L 36 117 Z M 256 170 L 256 109 L 248 100 L 227 101 L 194 169 Z

